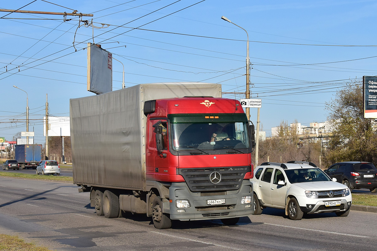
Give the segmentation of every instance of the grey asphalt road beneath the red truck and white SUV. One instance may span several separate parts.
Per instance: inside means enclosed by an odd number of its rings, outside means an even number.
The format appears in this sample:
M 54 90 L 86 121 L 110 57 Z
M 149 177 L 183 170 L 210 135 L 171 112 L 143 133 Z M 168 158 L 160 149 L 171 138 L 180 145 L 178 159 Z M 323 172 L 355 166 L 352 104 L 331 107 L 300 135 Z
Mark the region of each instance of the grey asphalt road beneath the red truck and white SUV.
M 158 230 L 151 218 L 97 216 L 77 186 L 0 177 L 0 233 L 17 234 L 52 250 L 376 250 L 375 213 L 304 215 L 264 209 L 235 226 L 221 221 L 174 222 Z

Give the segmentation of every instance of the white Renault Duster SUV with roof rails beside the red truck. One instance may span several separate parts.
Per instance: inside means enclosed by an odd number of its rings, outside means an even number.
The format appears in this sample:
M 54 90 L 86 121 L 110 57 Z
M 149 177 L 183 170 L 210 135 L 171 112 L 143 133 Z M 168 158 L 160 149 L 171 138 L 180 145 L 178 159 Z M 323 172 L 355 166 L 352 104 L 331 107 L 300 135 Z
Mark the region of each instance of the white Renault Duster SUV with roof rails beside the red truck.
M 285 209 L 285 215 L 293 220 L 300 220 L 303 213 L 334 212 L 347 216 L 352 204 L 349 189 L 310 162 L 265 162 L 255 169 L 250 181 L 254 188 L 254 214 L 273 207 Z

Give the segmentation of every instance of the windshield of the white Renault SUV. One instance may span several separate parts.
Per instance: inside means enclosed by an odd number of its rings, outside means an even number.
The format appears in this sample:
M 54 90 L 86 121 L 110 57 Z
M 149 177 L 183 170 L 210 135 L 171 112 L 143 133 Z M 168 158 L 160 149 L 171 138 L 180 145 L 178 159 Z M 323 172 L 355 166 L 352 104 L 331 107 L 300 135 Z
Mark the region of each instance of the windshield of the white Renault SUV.
M 331 181 L 319 168 L 284 170 L 291 184 L 312 181 Z

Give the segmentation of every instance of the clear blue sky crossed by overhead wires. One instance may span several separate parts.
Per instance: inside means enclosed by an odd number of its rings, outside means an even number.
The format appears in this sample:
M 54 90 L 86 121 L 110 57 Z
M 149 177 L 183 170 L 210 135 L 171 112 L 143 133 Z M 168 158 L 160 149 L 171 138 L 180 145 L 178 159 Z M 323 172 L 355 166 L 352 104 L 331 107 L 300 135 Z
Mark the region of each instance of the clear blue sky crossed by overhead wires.
M 46 94 L 50 116 L 69 116 L 70 98 L 94 95 L 86 90 L 83 50 L 93 39 L 124 64 L 126 86 L 193 81 L 221 83 L 223 92 L 244 92 L 247 36 L 222 20 L 223 15 L 248 32 L 251 97 L 262 99 L 267 135 L 283 120 L 297 119 L 303 125 L 326 121 L 325 102 L 339 88 L 349 80 L 377 75 L 376 1 L 175 2 L 1 1 L 1 9 L 30 3 L 22 9 L 92 13 L 94 26 L 110 26 L 93 29 L 78 17 L 64 22 L 60 15 L 0 12 L 0 17 L 6 15 L 0 18 L 0 122 L 7 122 L 0 123 L 0 137 L 11 141 L 26 131 L 20 121 L 26 119 L 26 93 L 13 85 L 28 93 L 35 143 L 45 142 L 40 119 Z M 91 19 L 82 18 L 87 23 Z M 131 29 L 139 26 L 145 30 Z M 121 84 L 122 65 L 113 61 L 113 90 Z M 256 108 L 250 114 L 256 122 Z M 20 122 L 9 123 L 14 119 Z

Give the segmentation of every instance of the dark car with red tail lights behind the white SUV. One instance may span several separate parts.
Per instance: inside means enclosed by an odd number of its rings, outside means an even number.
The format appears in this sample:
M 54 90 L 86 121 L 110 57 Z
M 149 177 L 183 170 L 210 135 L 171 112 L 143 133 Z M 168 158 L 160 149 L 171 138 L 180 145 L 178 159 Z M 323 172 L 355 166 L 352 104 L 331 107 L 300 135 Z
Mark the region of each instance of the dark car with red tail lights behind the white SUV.
M 377 169 L 374 164 L 361 161 L 347 161 L 333 164 L 325 172 L 330 178 L 345 184 L 349 189 L 367 188 L 377 192 Z

